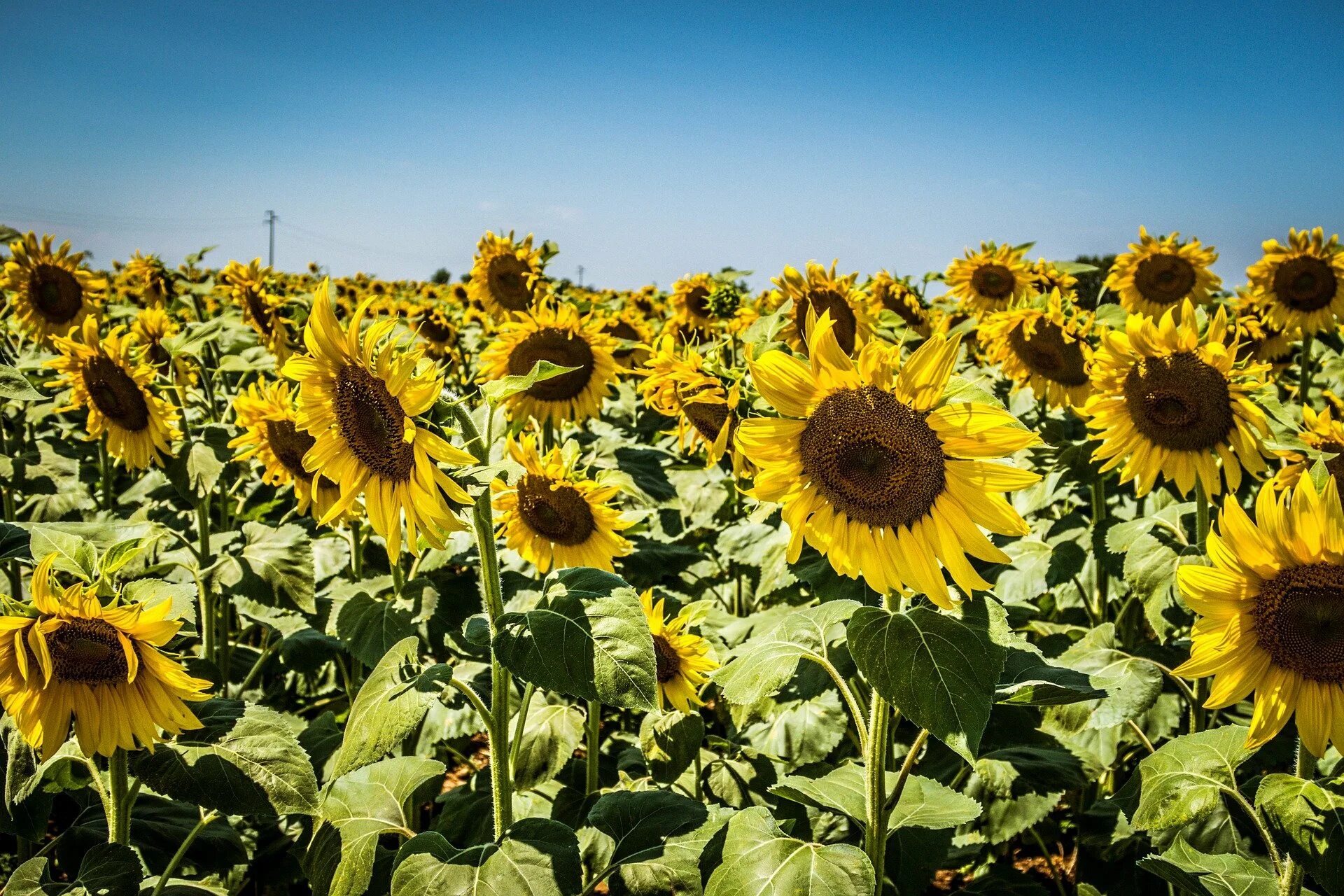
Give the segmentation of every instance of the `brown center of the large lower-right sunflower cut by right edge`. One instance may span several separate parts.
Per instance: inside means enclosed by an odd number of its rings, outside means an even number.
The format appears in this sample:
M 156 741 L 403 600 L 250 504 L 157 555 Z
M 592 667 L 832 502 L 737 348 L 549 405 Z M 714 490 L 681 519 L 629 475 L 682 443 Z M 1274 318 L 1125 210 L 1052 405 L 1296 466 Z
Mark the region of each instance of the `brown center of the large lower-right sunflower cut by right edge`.
M 1261 586 L 1251 615 L 1255 639 L 1275 666 L 1344 682 L 1344 567 L 1284 570 Z

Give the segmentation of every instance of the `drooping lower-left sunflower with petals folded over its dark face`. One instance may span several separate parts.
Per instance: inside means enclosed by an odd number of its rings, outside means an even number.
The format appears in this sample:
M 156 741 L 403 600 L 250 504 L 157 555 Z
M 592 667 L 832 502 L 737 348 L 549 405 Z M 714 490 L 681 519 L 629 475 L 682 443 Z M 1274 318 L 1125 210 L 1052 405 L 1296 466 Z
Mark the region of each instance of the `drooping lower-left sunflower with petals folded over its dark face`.
M 185 704 L 208 699 L 210 682 L 159 649 L 181 627 L 168 618 L 172 602 L 114 598 L 103 606 L 83 583 L 60 588 L 51 578 L 55 557 L 32 574 L 32 604 L 11 604 L 0 617 L 0 704 L 23 739 L 46 760 L 71 721 L 89 756 L 149 747 L 163 740 L 160 731 L 200 728 Z

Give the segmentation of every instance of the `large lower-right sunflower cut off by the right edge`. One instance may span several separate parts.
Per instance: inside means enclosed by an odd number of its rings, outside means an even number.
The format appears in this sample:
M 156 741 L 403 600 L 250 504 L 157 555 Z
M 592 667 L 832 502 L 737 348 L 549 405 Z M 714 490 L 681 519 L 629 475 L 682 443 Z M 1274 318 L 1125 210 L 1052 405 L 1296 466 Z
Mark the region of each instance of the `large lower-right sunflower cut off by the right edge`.
M 1344 747 L 1344 512 L 1333 477 L 1317 492 L 1261 486 L 1253 521 L 1231 494 L 1208 533 L 1211 567 L 1181 566 L 1176 582 L 1200 618 L 1179 676 L 1214 676 L 1210 709 L 1255 693 L 1247 748 L 1297 715 L 1313 756 Z

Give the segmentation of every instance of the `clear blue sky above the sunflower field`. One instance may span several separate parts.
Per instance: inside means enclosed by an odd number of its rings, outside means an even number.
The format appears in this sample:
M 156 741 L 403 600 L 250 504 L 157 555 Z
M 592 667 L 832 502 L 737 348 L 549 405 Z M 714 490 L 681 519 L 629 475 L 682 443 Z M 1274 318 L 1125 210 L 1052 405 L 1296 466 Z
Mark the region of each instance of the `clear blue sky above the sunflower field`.
M 1344 4 L 12 4 L 0 222 L 335 274 L 942 269 L 1344 230 Z M 934 7 L 946 7 L 934 8 Z

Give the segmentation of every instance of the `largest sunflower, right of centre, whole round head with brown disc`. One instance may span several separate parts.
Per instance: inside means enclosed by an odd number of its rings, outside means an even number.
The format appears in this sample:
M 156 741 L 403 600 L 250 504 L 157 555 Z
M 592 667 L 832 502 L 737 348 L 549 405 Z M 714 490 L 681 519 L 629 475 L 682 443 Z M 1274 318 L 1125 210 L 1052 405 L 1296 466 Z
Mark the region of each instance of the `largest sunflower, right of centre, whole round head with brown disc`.
M 810 363 L 770 351 L 750 364 L 782 416 L 738 426 L 737 446 L 758 467 L 749 494 L 784 505 L 790 563 L 806 541 L 876 591 L 913 588 L 952 607 L 939 563 L 968 595 L 988 588 L 966 553 L 1007 563 L 980 527 L 1025 535 L 999 492 L 1040 480 L 988 458 L 1040 437 L 1007 411 L 946 400 L 958 340 L 933 336 L 903 364 L 899 349 L 874 341 L 855 361 L 833 328 L 829 314 L 817 321 Z

